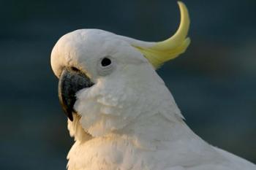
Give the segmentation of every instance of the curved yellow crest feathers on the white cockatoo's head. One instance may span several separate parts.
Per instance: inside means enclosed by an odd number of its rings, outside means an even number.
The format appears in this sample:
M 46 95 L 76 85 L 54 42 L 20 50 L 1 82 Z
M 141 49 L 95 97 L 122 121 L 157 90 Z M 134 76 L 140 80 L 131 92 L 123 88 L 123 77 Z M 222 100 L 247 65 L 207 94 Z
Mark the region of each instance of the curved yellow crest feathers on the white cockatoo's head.
M 143 53 L 145 58 L 154 66 L 159 68 L 163 63 L 173 58 L 178 57 L 187 49 L 190 43 L 187 33 L 189 31 L 189 13 L 187 7 L 181 1 L 178 1 L 178 7 L 181 11 L 181 22 L 176 34 L 162 42 L 155 42 L 151 47 L 142 47 L 133 45 L 140 53 Z

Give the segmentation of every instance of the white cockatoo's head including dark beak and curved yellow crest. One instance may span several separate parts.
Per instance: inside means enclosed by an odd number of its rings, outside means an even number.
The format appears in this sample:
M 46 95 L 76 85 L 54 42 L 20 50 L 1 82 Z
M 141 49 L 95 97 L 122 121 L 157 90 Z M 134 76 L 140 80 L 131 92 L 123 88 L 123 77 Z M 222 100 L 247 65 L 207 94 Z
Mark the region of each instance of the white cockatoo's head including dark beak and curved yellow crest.
M 161 113 L 170 120 L 180 115 L 155 72 L 189 45 L 189 15 L 183 3 L 178 5 L 178 31 L 162 42 L 143 42 L 98 29 L 72 31 L 59 39 L 51 66 L 59 78 L 59 100 L 69 121 L 78 115 L 86 132 L 102 136 L 138 117 L 157 114 L 159 108 L 167 108 Z

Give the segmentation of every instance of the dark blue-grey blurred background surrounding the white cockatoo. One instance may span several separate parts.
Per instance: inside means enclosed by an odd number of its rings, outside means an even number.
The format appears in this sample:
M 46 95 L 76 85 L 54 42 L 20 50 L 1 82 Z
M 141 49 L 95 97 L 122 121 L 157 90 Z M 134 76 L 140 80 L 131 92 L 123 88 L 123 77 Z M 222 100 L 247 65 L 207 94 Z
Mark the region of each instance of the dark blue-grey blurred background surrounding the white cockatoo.
M 184 0 L 192 44 L 158 70 L 187 124 L 256 163 L 256 1 Z M 60 36 L 101 28 L 146 41 L 174 34 L 173 0 L 0 1 L 0 169 L 65 169 L 73 139 L 50 52 Z

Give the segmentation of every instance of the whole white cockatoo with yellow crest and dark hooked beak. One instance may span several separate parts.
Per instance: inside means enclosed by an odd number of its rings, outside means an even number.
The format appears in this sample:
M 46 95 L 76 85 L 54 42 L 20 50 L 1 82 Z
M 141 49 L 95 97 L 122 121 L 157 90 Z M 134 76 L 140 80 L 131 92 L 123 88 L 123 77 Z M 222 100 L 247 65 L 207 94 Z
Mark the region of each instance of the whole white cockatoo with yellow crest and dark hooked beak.
M 189 14 L 162 42 L 143 42 L 99 29 L 59 39 L 51 66 L 75 144 L 69 170 L 255 170 L 203 141 L 184 123 L 155 71 L 189 46 Z

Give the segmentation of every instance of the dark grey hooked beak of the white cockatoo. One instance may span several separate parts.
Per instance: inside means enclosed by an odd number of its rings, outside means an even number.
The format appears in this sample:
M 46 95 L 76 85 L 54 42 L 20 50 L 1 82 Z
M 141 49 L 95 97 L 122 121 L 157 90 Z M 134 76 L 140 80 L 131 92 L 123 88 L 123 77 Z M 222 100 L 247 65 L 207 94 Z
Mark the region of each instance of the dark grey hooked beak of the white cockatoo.
M 59 78 L 59 101 L 69 120 L 73 120 L 72 112 L 76 112 L 73 108 L 76 101 L 75 94 L 83 88 L 90 88 L 92 85 L 94 83 L 89 77 L 78 69 L 63 69 Z

